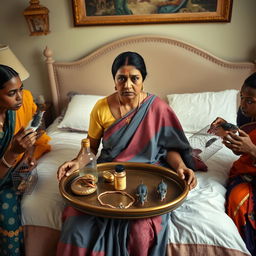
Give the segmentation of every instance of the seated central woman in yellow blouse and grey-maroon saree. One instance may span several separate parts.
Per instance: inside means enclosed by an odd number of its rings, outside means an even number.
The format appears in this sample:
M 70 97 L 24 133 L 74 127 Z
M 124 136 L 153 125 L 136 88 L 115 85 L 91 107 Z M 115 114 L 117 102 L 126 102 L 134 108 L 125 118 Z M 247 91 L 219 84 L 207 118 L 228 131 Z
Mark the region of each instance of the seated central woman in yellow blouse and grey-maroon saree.
M 113 62 L 112 75 L 116 92 L 99 100 L 90 117 L 88 138 L 94 154 L 102 139 L 98 163 L 169 166 L 193 189 L 197 180 L 191 147 L 169 105 L 143 91 L 147 75 L 143 58 L 135 52 L 121 53 Z M 59 167 L 59 181 L 79 169 L 80 155 L 81 151 Z M 110 219 L 68 206 L 63 217 L 57 255 L 74 255 L 74 251 L 77 255 L 165 255 L 168 213 L 138 220 Z

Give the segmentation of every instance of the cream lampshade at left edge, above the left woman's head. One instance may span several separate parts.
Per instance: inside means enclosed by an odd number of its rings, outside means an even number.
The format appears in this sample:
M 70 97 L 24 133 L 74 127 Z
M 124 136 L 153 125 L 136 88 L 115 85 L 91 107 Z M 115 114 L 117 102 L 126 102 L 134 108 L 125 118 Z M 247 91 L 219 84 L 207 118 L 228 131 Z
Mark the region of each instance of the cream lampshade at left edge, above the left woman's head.
M 0 44 L 0 64 L 9 66 L 19 73 L 21 81 L 29 77 L 28 71 L 14 55 L 8 45 Z

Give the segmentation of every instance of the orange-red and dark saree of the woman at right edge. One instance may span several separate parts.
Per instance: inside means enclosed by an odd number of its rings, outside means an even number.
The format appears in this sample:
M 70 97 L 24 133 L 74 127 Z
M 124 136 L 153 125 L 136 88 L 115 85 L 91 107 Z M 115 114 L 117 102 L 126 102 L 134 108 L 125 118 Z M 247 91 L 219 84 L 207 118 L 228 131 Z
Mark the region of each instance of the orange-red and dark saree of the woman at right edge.
M 254 126 L 254 129 L 253 129 Z M 243 125 L 256 145 L 256 123 Z M 233 219 L 248 250 L 256 255 L 256 161 L 248 154 L 233 163 L 227 187 L 227 214 Z

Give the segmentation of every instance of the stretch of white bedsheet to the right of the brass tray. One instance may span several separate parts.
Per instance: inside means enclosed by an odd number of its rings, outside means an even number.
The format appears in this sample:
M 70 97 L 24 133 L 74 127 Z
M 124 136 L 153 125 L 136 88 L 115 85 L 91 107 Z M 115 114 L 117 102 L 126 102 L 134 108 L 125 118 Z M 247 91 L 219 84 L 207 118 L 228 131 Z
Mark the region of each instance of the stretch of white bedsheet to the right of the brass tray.
M 198 185 L 171 213 L 170 243 L 207 244 L 248 252 L 236 226 L 225 213 L 225 182 L 236 160 L 223 148 L 206 163 L 208 172 L 197 173 Z

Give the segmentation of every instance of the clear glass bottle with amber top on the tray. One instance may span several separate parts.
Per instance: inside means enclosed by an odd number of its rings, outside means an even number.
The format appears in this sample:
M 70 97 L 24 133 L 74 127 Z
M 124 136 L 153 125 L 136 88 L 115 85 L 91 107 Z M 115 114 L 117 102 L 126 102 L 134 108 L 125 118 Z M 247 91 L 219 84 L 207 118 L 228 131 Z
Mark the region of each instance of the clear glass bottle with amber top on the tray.
M 82 140 L 82 152 L 79 157 L 79 176 L 85 176 L 87 174 L 94 176 L 95 183 L 98 182 L 98 170 L 96 156 L 91 152 L 90 139 L 86 138 Z

